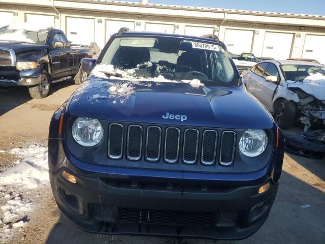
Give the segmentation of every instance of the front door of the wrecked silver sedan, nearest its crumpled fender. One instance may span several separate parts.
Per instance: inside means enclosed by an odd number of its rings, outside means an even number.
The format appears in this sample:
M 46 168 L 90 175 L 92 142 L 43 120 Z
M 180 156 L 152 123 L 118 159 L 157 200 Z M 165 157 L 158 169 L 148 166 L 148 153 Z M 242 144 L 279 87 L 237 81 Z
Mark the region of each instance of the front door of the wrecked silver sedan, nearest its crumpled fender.
M 258 100 L 261 101 L 269 111 L 272 111 L 272 100 L 275 90 L 278 87 L 278 82 L 267 81 L 266 77 L 268 76 L 276 76 L 278 78 L 278 81 L 280 81 L 278 68 L 272 63 L 268 65 L 263 74 L 263 81 L 261 83 L 261 96 L 258 98 Z

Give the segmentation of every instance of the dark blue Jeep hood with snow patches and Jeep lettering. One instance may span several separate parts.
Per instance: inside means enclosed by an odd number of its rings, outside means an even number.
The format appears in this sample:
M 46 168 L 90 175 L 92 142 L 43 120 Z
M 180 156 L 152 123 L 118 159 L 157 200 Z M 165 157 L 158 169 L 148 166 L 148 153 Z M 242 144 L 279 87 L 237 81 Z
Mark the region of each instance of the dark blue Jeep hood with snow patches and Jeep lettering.
M 243 87 L 183 82 L 91 80 L 70 99 L 70 115 L 135 123 L 234 129 L 270 129 L 271 115 Z M 186 120 L 166 117 L 185 115 Z M 184 116 L 183 116 L 184 118 Z

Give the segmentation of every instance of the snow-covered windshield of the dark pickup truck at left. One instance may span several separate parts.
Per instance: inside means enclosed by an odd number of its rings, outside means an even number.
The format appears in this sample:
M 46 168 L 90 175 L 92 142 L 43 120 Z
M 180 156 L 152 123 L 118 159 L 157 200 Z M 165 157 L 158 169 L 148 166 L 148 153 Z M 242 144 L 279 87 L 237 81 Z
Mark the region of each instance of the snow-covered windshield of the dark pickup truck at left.
M 28 30 L 27 28 L 16 28 L 5 26 L 0 28 L 0 40 L 31 42 L 44 45 L 49 32 L 43 30 Z

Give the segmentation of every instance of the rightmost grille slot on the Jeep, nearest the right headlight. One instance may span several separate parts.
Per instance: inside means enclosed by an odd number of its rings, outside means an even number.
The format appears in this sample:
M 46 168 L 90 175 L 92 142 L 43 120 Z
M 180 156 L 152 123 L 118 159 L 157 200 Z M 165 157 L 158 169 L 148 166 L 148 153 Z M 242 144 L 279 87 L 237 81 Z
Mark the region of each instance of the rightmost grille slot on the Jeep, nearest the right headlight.
M 224 131 L 221 135 L 220 164 L 231 165 L 235 154 L 236 133 Z

